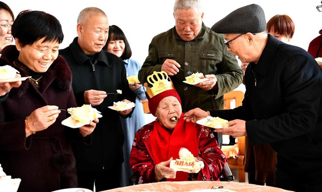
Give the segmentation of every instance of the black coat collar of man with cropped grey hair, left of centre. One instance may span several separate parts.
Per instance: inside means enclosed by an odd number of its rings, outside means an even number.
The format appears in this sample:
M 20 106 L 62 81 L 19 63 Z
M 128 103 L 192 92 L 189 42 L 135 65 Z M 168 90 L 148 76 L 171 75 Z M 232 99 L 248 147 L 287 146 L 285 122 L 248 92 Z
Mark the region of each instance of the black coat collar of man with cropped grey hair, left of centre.
M 75 37 L 73 42 L 69 45 L 71 53 L 76 60 L 77 65 L 82 65 L 89 62 L 88 56 L 84 53 L 83 49 L 78 44 L 78 37 Z M 108 59 L 106 57 L 105 51 L 101 50 L 96 55 L 97 62 L 106 64 L 107 66 L 111 66 L 109 64 Z

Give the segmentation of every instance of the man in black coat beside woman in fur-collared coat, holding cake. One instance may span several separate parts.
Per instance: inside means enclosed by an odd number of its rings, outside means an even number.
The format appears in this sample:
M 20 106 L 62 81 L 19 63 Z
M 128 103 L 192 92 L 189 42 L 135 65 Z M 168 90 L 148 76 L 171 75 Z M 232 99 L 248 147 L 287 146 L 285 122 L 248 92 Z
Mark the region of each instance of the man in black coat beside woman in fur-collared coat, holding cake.
M 99 8 L 83 9 L 77 19 L 78 37 L 59 54 L 70 65 L 72 87 L 78 106 L 91 104 L 103 115 L 92 133 L 92 143 L 75 142 L 73 146 L 79 187 L 104 191 L 120 187 L 123 162 L 122 118 L 130 117 L 134 108 L 116 111 L 114 102 L 135 102 L 128 86 L 126 69 L 114 54 L 102 50 L 108 38 L 109 23 Z M 121 90 L 121 94 L 117 94 Z M 108 94 L 115 93 L 115 94 Z

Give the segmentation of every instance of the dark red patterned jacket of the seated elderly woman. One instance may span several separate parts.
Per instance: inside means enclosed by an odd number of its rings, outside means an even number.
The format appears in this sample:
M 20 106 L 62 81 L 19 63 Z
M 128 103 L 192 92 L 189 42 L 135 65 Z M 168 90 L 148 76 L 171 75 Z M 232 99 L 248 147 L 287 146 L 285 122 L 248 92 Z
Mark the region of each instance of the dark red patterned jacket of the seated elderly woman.
M 160 124 L 160 122 L 156 120 L 140 128 L 135 134 L 133 141 L 130 155 L 130 167 L 133 173 L 140 175 L 139 184 L 156 182 L 154 167 L 157 163 L 153 157 L 150 137 L 154 124 Z M 184 126 L 186 126 L 186 124 L 184 124 Z M 186 126 L 185 130 L 189 131 L 189 128 L 190 131 L 192 131 L 191 128 L 195 128 L 199 148 L 198 156 L 205 164 L 205 167 L 199 172 L 197 180 L 217 181 L 227 162 L 224 153 L 219 149 L 219 145 L 210 128 L 201 125 L 193 125 Z M 184 135 L 184 133 L 182 134 Z M 184 143 L 182 143 L 182 146 L 184 146 Z M 166 158 L 166 160 L 169 159 L 170 157 Z M 188 181 L 188 178 L 184 181 Z

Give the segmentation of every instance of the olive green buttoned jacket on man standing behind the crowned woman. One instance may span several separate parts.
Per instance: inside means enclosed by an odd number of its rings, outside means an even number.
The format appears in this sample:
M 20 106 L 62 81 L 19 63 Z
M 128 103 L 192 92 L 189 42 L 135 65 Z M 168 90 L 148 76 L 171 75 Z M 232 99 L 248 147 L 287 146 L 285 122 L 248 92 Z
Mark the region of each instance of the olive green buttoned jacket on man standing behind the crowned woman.
M 214 74 L 217 77 L 218 90 L 204 91 L 183 83 L 188 75 L 181 70 L 170 76 L 181 98 L 183 112 L 196 107 L 203 110 L 223 109 L 223 95 L 242 82 L 243 72 L 235 56 L 227 51 L 224 36 L 211 31 L 204 23 L 192 41 L 182 40 L 176 27 L 153 37 L 146 61 L 139 71 L 140 82 L 144 84 L 148 75 L 160 71 L 167 59 L 175 60 L 184 70 Z

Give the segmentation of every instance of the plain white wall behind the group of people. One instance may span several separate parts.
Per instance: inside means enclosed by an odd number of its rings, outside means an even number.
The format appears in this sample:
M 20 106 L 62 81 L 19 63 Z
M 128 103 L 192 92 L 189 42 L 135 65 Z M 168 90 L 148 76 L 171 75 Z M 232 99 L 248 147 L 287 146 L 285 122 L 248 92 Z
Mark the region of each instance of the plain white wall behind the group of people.
M 153 36 L 175 25 L 173 4 L 175 0 L 3 0 L 15 16 L 25 9 L 41 10 L 56 16 L 65 35 L 59 48 L 67 47 L 76 33 L 79 12 L 88 6 L 101 8 L 110 25 L 120 27 L 128 38 L 133 56 L 143 63 Z M 293 45 L 307 50 L 309 42 L 322 29 L 322 12 L 316 6 L 321 0 L 202 0 L 205 25 L 211 27 L 233 10 L 251 3 L 262 6 L 266 21 L 276 14 L 287 14 L 295 23 Z M 243 89 L 243 88 L 241 88 Z

